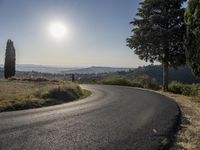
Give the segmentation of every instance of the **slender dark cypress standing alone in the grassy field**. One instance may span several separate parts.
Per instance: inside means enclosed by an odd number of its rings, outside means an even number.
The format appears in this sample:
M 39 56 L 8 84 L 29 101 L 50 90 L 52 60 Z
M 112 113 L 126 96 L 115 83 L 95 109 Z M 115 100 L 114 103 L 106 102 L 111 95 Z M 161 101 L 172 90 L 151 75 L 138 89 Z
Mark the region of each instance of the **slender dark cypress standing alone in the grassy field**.
M 11 40 L 7 41 L 5 64 L 4 64 L 4 76 L 10 78 L 15 75 L 15 48 Z

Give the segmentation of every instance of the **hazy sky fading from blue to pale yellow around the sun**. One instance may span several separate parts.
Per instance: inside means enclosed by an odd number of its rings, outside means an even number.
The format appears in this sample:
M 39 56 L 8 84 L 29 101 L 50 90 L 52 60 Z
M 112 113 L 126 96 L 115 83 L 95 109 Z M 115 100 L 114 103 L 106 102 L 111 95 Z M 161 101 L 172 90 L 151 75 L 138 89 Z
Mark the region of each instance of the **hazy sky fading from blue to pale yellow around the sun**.
M 139 0 L 0 0 L 0 64 L 14 41 L 18 64 L 137 67 L 126 46 Z M 52 23 L 67 34 L 50 34 Z

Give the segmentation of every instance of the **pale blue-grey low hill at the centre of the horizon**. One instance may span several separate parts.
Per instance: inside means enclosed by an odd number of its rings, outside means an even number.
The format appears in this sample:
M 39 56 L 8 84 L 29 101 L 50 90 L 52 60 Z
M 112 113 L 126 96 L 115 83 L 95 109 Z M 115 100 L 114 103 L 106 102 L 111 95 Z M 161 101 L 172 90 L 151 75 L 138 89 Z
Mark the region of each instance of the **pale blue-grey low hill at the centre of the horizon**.
M 130 68 L 112 68 L 112 67 L 89 67 L 89 68 L 81 68 L 81 69 L 74 69 L 74 70 L 68 70 L 63 71 L 62 73 L 65 74 L 98 74 L 98 73 L 112 73 L 117 71 L 128 71 Z

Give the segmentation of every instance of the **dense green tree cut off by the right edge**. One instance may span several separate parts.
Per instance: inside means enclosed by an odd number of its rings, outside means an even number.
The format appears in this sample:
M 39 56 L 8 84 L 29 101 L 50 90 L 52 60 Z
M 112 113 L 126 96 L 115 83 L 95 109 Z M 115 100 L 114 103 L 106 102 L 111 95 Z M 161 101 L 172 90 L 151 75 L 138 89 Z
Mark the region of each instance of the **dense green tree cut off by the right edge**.
M 190 0 L 185 12 L 186 56 L 193 73 L 200 77 L 200 0 Z

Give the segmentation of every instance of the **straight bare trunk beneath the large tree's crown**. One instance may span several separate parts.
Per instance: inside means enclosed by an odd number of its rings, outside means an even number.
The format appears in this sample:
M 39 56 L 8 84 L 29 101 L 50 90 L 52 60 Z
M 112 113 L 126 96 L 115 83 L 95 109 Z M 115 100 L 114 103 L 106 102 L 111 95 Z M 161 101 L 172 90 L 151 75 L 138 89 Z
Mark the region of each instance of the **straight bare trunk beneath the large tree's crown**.
M 168 61 L 163 62 L 163 91 L 168 91 Z

